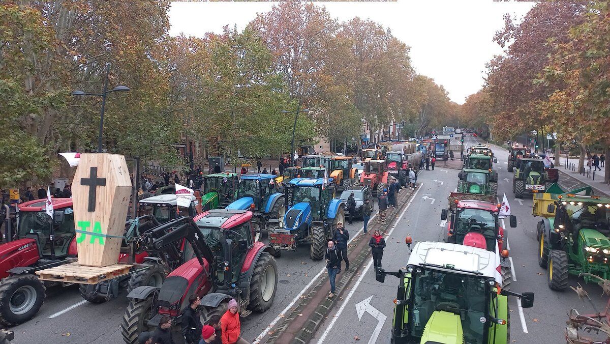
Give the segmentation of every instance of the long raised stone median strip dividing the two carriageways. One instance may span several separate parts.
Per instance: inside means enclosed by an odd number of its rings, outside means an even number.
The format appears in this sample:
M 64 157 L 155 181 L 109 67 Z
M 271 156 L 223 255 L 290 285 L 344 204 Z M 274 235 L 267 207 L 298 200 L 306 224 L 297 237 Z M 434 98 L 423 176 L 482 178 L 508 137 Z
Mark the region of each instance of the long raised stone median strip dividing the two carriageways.
M 403 204 L 403 207 L 407 204 L 409 198 L 411 198 L 414 191 L 409 189 L 404 189 L 406 196 L 401 197 L 401 199 L 397 199 L 398 202 Z M 370 232 L 374 232 L 376 229 L 382 229 L 383 232 L 388 230 L 387 226 L 392 224 L 393 221 L 398 217 L 398 214 L 403 210 L 403 207 L 395 208 L 393 211 L 386 216 L 386 224 L 384 224 L 384 228 L 381 228 L 381 224 L 379 222 L 371 223 L 369 221 L 368 229 Z M 369 233 L 370 233 L 369 232 Z M 367 260 L 367 257 L 370 255 L 371 248 L 368 246 L 368 241 L 366 238 L 370 238 L 369 235 L 364 235 L 364 233 L 359 233 L 358 238 L 354 239 L 351 244 L 352 249 L 357 249 L 357 247 L 361 247 L 360 252 L 357 253 L 356 258 L 352 258 L 350 261 L 350 271 L 345 271 L 341 274 L 341 278 L 336 282 L 336 293 L 335 297 L 332 299 L 323 297 L 321 302 L 318 301 L 317 306 L 315 306 L 316 301 L 315 298 L 320 298 L 318 293 L 320 293 L 320 288 L 324 287 L 325 284 L 328 284 L 328 274 L 323 274 L 320 277 L 320 280 L 312 287 L 312 289 L 307 293 L 306 296 L 299 302 L 299 304 L 292 309 L 290 314 L 285 315 L 282 323 L 276 325 L 276 329 L 273 331 L 273 334 L 267 339 L 265 343 L 275 344 L 275 343 L 291 343 L 291 344 L 304 344 L 309 343 L 309 341 L 314 337 L 315 332 L 323 323 L 323 321 L 328 317 L 332 308 L 335 306 L 336 302 L 340 300 L 340 297 L 343 295 L 343 292 L 346 290 L 346 286 L 350 284 L 351 280 L 359 268 L 361 268 Z M 303 297 L 303 296 L 301 296 Z M 315 308 L 314 308 L 315 307 Z M 309 313 L 306 315 L 306 319 L 303 319 L 303 313 Z M 300 328 L 293 332 L 289 331 L 290 324 L 293 326 L 299 326 Z M 293 328 L 295 329 L 295 328 Z M 293 332 L 290 334 L 289 332 Z M 270 332 L 271 333 L 271 332 Z M 282 337 L 286 337 L 290 335 L 290 339 Z

